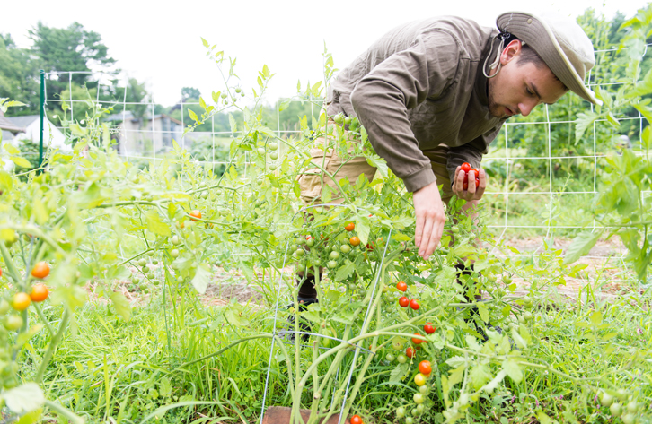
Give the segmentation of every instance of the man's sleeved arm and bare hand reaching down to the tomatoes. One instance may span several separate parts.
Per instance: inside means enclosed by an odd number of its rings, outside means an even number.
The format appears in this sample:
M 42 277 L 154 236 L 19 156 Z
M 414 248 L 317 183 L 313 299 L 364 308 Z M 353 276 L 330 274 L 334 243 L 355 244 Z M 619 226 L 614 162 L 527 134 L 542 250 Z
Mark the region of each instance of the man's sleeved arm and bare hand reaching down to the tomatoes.
M 421 36 L 410 48 L 377 65 L 351 94 L 374 150 L 414 192 L 415 244 L 424 259 L 439 244 L 445 212 L 430 160 L 412 133 L 408 109 L 427 98 L 437 99 L 454 82 L 460 60 L 456 46 L 453 37 L 442 31 Z

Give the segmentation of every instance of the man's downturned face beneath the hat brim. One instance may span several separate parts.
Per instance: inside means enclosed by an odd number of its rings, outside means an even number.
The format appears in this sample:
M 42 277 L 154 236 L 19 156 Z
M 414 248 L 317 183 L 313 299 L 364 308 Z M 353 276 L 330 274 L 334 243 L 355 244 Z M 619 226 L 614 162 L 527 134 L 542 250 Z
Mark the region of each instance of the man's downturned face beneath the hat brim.
M 538 104 L 555 103 L 567 91 L 548 66 L 518 64 L 520 53 L 520 41 L 509 43 L 500 56 L 502 68 L 489 79 L 489 113 L 494 117 L 526 117 Z

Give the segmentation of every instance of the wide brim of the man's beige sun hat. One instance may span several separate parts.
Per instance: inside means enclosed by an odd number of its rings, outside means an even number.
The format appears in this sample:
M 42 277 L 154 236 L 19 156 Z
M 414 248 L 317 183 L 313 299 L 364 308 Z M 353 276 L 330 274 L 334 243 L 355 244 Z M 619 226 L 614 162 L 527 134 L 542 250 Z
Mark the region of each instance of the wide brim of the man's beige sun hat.
M 545 21 L 533 13 L 508 12 L 498 16 L 496 25 L 501 32 L 510 32 L 531 46 L 551 68 L 552 74 L 555 74 L 570 91 L 591 103 L 602 104 L 602 101 L 595 98 L 595 93 L 586 88 L 583 79 L 577 74 Z

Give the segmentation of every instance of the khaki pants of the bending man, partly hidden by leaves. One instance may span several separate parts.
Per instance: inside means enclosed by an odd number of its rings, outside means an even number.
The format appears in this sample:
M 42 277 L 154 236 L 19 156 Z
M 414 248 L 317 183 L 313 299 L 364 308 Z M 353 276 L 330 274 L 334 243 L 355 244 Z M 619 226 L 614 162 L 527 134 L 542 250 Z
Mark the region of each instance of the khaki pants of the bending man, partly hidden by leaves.
M 335 125 L 332 121 L 329 122 L 329 125 Z M 348 132 L 345 132 L 345 136 L 348 136 Z M 359 143 L 354 141 L 353 143 Z M 349 183 L 355 184 L 357 178 L 360 175 L 365 174 L 365 177 L 371 182 L 374 179 L 375 167 L 369 165 L 366 161 L 366 158 L 362 156 L 357 156 L 348 160 L 344 165 L 342 165 L 342 160 L 339 158 L 337 153 L 333 151 L 332 148 L 325 149 L 326 138 L 319 137 L 315 139 L 313 148 L 310 150 L 310 155 L 314 163 L 320 164 L 323 169 L 326 169 L 333 177 L 333 181 L 330 177 L 324 174 L 323 183 L 330 186 L 332 193 L 332 200 L 330 203 L 339 204 L 344 201 L 342 197 L 339 196 L 339 189 L 336 186 L 340 180 L 345 177 L 348 178 Z M 446 152 L 448 147 L 441 145 L 432 151 L 424 151 L 423 153 L 430 160 L 430 166 L 432 167 L 435 177 L 437 179 L 437 185 L 443 185 L 443 195 L 442 200 L 445 203 L 453 196 L 453 191 L 451 190 L 451 181 L 448 177 L 448 170 L 446 169 Z M 323 164 L 323 165 L 322 165 Z M 307 169 L 304 174 L 298 177 L 299 186 L 301 187 L 301 200 L 304 204 L 318 204 L 322 202 L 322 170 L 319 168 Z

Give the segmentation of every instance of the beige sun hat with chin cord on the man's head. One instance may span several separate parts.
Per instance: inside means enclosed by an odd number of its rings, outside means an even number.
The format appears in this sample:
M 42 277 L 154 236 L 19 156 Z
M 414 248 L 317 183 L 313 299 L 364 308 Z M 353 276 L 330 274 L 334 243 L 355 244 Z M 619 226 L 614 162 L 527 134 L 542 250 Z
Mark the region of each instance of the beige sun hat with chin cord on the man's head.
M 559 81 L 584 100 L 602 104 L 584 85 L 595 65 L 591 40 L 574 20 L 557 13 L 507 12 L 498 16 L 500 32 L 514 34 L 542 57 Z

